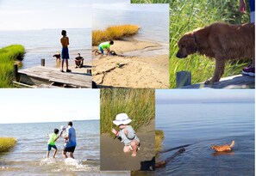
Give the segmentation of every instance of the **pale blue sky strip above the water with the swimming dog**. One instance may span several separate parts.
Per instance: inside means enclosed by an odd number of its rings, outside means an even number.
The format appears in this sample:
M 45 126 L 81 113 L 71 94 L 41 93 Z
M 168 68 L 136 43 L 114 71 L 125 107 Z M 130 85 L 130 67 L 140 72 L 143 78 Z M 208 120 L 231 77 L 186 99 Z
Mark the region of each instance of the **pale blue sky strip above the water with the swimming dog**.
M 170 89 L 156 90 L 156 102 L 254 101 L 254 89 Z

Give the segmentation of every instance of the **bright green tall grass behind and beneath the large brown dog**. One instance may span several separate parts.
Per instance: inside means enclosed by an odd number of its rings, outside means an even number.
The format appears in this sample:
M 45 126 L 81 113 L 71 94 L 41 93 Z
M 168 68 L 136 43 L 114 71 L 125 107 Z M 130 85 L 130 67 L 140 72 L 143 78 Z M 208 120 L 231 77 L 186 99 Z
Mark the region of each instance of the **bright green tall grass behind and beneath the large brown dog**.
M 165 0 L 131 0 L 131 3 L 166 3 Z M 205 82 L 213 76 L 215 60 L 194 54 L 188 58 L 176 58 L 178 52 L 178 39 L 184 33 L 199 27 L 208 26 L 216 21 L 230 24 L 249 22 L 249 13 L 242 15 L 239 12 L 239 1 L 212 1 L 212 0 L 176 0 L 170 1 L 170 88 L 176 88 L 176 73 L 190 71 L 191 83 Z M 247 4 L 247 7 L 248 4 Z M 234 76 L 251 64 L 250 60 L 228 61 L 222 77 Z

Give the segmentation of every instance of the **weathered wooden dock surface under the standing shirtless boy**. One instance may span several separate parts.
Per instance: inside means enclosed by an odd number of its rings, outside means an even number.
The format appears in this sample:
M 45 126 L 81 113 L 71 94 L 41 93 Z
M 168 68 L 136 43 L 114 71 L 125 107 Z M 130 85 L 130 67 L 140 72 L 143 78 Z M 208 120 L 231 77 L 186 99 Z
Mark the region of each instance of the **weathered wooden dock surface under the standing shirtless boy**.
M 19 74 L 46 80 L 47 82 L 59 82 L 63 84 L 73 85 L 78 88 L 91 88 L 91 76 L 76 72 L 66 73 L 60 72 L 55 68 L 36 66 L 25 70 L 19 70 Z

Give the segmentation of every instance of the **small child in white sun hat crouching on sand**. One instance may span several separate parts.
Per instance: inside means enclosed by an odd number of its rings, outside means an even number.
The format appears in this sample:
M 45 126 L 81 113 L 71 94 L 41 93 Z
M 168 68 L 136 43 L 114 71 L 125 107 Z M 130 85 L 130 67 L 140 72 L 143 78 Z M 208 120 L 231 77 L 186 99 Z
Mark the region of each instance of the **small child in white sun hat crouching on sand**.
M 126 113 L 119 113 L 116 115 L 116 120 L 113 121 L 119 127 L 119 131 L 112 129 L 116 137 L 122 138 L 124 143 L 123 152 L 128 153 L 133 151 L 132 156 L 136 156 L 137 149 L 140 145 L 140 139 L 136 136 L 135 131 L 131 125 L 128 125 L 132 120 Z

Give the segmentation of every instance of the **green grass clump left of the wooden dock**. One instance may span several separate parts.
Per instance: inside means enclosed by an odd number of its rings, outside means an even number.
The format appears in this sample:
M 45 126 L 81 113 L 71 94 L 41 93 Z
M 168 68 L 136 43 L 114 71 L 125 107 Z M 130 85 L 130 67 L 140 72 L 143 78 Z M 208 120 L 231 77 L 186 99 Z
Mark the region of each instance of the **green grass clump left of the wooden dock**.
M 12 88 L 15 60 L 22 60 L 25 49 L 20 45 L 0 49 L 0 88 Z

